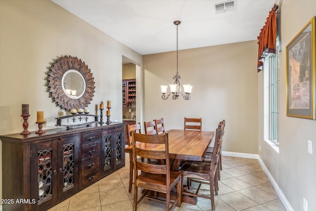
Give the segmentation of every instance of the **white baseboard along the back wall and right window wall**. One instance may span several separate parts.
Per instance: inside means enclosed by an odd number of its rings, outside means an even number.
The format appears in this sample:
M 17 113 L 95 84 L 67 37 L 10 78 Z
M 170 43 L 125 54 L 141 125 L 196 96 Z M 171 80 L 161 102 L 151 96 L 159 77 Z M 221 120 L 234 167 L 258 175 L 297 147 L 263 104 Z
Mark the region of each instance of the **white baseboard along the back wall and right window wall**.
M 263 169 L 263 171 L 266 173 L 268 176 L 272 186 L 274 187 L 276 194 L 278 198 L 280 199 L 281 203 L 283 204 L 284 208 L 286 211 L 294 211 L 293 208 L 291 207 L 290 203 L 288 203 L 287 199 L 285 198 L 283 192 L 281 189 L 278 187 L 276 180 L 272 177 L 271 173 L 267 169 L 266 165 L 263 163 L 259 155 L 257 154 L 248 154 L 248 153 L 238 153 L 238 152 L 225 152 L 222 151 L 223 156 L 229 156 L 229 157 L 237 157 L 237 158 L 250 158 L 250 159 L 257 159 Z

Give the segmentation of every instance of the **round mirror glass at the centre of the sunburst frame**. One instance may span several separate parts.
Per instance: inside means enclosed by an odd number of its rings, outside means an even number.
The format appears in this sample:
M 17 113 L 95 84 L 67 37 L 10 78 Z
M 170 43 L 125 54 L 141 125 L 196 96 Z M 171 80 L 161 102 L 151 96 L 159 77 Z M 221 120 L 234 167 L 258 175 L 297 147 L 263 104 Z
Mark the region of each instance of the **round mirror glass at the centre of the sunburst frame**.
M 77 70 L 68 70 L 61 79 L 66 95 L 72 99 L 80 98 L 85 91 L 85 80 Z

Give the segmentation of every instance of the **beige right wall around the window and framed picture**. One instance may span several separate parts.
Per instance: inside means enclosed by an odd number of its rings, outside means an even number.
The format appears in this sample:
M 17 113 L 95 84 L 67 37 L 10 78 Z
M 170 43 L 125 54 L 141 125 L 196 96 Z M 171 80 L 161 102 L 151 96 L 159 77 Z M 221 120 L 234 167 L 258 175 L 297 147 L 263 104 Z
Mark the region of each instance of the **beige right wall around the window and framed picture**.
M 304 9 L 298 9 L 302 6 Z M 314 15 L 316 15 L 315 0 L 283 0 L 278 9 L 277 19 L 281 47 L 279 55 L 279 153 L 264 141 L 264 72 L 261 71 L 258 74 L 258 125 L 259 145 L 261 145 L 259 156 L 294 211 L 303 210 L 303 198 L 308 201 L 309 211 L 316 210 L 316 121 L 286 116 L 285 47 Z M 308 139 L 313 141 L 313 155 L 307 152 Z

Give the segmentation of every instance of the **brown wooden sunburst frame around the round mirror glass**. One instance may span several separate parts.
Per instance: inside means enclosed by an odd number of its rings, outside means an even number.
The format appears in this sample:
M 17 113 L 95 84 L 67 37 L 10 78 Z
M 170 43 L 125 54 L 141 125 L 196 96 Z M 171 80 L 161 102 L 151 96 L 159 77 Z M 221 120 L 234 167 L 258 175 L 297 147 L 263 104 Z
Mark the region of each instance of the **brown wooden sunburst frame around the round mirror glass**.
M 62 56 L 51 65 L 48 72 L 48 89 L 53 101 L 58 107 L 70 111 L 71 109 L 85 108 L 94 96 L 94 78 L 88 66 L 73 56 Z M 62 78 L 68 70 L 77 70 L 84 78 L 86 84 L 84 94 L 73 99 L 63 89 Z

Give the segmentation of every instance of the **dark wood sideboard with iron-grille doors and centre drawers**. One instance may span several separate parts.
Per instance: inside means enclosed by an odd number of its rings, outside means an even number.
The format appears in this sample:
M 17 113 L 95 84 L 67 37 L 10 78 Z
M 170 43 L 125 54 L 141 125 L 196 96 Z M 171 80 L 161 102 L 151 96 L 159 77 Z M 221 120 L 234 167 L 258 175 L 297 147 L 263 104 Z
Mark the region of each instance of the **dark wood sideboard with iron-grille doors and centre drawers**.
M 45 131 L 0 136 L 2 210 L 48 210 L 125 166 L 125 123 Z

